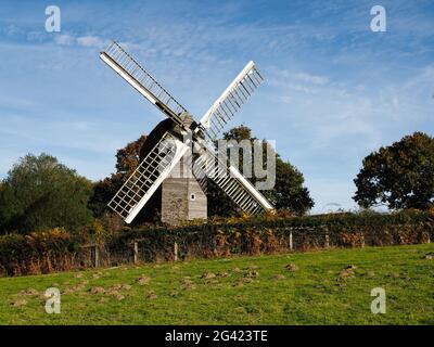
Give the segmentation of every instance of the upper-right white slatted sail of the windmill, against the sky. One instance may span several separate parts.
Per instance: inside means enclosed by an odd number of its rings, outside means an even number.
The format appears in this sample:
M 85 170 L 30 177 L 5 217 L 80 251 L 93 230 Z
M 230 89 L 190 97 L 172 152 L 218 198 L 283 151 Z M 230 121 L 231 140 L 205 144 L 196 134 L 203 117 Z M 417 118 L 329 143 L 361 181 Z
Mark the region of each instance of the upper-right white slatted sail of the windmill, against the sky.
M 226 124 L 233 118 L 263 80 L 255 63 L 248 62 L 201 118 L 201 125 L 205 128 L 206 141 L 213 143 L 217 140 Z

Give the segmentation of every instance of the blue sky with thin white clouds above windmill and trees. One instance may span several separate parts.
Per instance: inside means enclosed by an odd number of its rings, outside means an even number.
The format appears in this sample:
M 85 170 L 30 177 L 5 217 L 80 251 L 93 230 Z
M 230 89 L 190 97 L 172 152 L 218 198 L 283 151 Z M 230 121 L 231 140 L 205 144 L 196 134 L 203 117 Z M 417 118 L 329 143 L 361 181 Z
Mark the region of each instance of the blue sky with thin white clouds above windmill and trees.
M 46 30 L 46 8 L 61 31 Z M 373 5 L 386 10 L 374 33 Z M 56 156 L 91 180 L 164 116 L 99 59 L 118 41 L 200 119 L 253 60 L 266 78 L 244 124 L 305 177 L 315 207 L 356 209 L 363 157 L 433 136 L 434 1 L 2 1 L 0 178 Z

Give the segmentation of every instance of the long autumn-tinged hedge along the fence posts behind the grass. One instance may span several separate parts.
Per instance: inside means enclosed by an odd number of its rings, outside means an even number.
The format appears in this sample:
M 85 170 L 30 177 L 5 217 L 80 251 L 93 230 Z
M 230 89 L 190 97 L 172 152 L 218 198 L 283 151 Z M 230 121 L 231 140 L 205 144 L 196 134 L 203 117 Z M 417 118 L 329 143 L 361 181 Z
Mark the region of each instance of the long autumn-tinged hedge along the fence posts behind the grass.
M 101 266 L 130 262 L 135 258 L 135 243 L 136 259 L 159 261 L 174 260 L 175 244 L 178 258 L 189 259 L 431 240 L 434 240 L 433 210 L 222 219 L 178 228 L 125 228 L 120 233 L 107 231 L 98 237 L 94 234 L 77 237 L 54 229 L 0 236 L 0 273 L 48 273 L 94 266 L 92 247 L 99 249 Z

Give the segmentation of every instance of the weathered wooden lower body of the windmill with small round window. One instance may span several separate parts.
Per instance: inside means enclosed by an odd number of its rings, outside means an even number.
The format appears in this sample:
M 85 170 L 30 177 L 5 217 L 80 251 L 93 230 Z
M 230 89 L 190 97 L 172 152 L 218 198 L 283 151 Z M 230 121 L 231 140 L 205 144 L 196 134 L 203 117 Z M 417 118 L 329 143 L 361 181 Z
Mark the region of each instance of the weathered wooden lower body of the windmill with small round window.
M 162 184 L 162 221 L 171 226 L 207 217 L 206 195 L 184 163 L 180 160 Z

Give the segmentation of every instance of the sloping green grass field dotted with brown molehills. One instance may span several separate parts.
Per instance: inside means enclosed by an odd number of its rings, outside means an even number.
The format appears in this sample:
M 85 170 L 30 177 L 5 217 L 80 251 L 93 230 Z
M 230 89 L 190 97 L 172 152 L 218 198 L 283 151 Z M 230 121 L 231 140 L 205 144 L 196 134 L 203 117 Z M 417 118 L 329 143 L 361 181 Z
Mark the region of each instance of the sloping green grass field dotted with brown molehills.
M 3 278 L 0 323 L 434 324 L 434 260 L 425 258 L 429 254 L 434 254 L 433 244 Z M 298 270 L 289 271 L 289 264 Z M 348 265 L 356 267 L 354 277 L 343 278 Z M 248 271 L 252 282 L 243 280 Z M 205 272 L 217 277 L 204 279 Z M 228 277 L 218 275 L 222 272 Z M 137 282 L 141 275 L 150 279 L 148 284 Z M 116 284 L 131 287 L 111 290 Z M 66 291 L 60 314 L 44 311 L 42 293 L 50 286 Z M 92 294 L 97 286 L 111 293 Z M 370 311 L 371 290 L 379 286 L 386 291 L 385 314 Z M 29 288 L 40 294 L 20 294 Z

